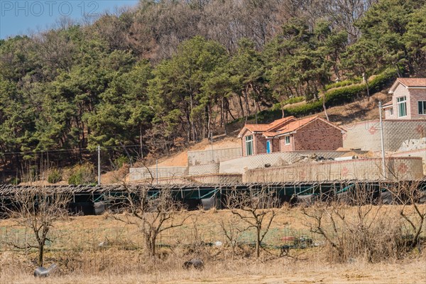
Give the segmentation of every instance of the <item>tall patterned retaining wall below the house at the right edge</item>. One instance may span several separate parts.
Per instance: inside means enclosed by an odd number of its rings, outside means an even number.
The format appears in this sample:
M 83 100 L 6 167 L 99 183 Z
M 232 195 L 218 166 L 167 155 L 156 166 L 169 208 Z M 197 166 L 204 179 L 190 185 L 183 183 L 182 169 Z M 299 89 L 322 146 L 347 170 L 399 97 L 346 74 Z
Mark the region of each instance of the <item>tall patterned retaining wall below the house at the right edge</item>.
M 381 127 L 378 120 L 363 121 L 343 126 L 344 148 L 361 148 L 366 151 L 381 151 Z M 398 151 L 404 141 L 426 137 L 426 119 L 383 120 L 385 151 Z

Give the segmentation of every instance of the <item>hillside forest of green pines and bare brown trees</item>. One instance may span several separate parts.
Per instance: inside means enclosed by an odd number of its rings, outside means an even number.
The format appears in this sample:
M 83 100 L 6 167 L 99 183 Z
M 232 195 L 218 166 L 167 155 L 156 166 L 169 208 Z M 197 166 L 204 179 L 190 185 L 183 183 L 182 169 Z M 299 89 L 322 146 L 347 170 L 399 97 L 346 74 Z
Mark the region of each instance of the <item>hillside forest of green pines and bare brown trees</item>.
M 160 155 L 291 98 L 321 106 L 363 74 L 425 76 L 425 15 L 425 0 L 141 1 L 0 40 L 3 165 L 98 145 Z

